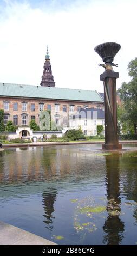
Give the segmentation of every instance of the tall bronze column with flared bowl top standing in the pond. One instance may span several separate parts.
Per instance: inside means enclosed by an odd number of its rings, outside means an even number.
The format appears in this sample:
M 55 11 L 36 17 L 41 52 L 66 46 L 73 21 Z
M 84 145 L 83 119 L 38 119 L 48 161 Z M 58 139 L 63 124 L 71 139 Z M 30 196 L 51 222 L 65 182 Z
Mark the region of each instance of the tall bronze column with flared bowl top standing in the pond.
M 113 150 L 121 149 L 117 135 L 117 117 L 116 117 L 116 78 L 119 77 L 118 72 L 114 72 L 112 66 L 118 66 L 113 63 L 116 53 L 121 46 L 115 42 L 106 42 L 97 45 L 97 52 L 105 64 L 99 64 L 105 68 L 105 72 L 100 75 L 100 80 L 104 84 L 104 104 L 105 104 L 105 144 L 103 149 Z

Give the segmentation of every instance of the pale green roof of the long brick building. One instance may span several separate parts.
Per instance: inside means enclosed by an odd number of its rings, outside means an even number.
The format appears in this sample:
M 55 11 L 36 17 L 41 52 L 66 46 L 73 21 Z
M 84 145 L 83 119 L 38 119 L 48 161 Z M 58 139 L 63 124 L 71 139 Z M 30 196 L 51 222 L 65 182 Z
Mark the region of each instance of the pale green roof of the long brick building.
M 27 86 L 12 83 L 0 83 L 0 96 L 103 102 L 101 96 L 93 90 Z

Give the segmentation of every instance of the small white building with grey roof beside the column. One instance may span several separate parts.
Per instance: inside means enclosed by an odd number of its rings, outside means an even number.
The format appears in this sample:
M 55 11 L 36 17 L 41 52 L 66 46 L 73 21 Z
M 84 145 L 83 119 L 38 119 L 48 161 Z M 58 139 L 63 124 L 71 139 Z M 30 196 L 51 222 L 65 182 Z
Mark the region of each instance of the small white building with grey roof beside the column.
M 95 136 L 97 134 L 97 125 L 105 124 L 105 117 L 103 109 L 98 108 L 81 108 L 75 115 L 71 115 L 69 120 L 69 127 L 73 129 L 83 130 L 84 135 Z

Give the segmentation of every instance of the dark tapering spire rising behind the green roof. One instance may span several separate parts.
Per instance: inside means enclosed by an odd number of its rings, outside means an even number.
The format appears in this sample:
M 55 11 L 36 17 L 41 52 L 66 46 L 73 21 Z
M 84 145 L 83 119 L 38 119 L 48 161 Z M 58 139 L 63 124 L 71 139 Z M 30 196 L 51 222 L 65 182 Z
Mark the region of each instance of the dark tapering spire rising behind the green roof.
M 49 58 L 49 51 L 47 46 L 47 54 L 45 55 L 45 63 L 44 63 L 44 70 L 41 80 L 41 86 L 45 87 L 55 87 L 54 77 L 51 71 L 51 64 Z

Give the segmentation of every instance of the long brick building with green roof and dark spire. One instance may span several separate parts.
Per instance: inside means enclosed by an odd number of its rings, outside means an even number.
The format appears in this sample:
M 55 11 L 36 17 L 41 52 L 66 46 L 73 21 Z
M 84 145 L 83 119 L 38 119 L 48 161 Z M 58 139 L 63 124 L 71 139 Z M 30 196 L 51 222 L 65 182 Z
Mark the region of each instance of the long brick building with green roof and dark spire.
M 5 125 L 11 120 L 14 125 L 25 127 L 31 119 L 39 124 L 40 112 L 49 110 L 57 126 L 68 127 L 70 115 L 80 108 L 103 108 L 102 97 L 96 90 L 55 87 L 48 51 L 41 86 L 0 83 L 0 91 L 0 109 L 4 109 Z

